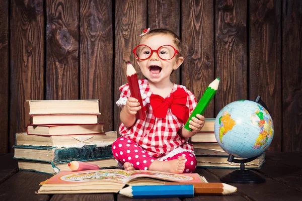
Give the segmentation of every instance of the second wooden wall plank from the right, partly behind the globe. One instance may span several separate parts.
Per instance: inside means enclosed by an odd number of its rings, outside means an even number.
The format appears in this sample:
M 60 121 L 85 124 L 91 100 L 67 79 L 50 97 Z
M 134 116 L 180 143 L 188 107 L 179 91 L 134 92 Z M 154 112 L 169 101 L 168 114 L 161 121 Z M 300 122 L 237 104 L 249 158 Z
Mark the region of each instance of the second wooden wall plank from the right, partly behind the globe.
M 269 107 L 276 134 L 270 150 L 277 151 L 282 143 L 281 2 L 251 1 L 249 11 L 249 97 L 260 95 Z

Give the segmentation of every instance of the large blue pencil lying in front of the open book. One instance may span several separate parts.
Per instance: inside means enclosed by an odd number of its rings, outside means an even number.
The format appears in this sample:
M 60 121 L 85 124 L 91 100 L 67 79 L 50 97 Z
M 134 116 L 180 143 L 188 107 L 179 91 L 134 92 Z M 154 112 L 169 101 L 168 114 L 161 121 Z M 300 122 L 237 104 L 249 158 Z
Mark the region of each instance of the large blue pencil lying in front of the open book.
M 128 186 L 119 191 L 132 198 L 194 197 L 193 184 Z

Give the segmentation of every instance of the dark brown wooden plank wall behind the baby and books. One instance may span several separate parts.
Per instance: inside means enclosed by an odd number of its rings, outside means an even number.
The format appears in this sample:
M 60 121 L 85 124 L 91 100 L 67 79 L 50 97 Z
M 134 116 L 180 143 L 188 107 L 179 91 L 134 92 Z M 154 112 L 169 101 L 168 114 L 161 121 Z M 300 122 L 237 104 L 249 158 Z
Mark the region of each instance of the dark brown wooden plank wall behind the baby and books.
M 147 27 L 183 42 L 172 75 L 199 100 L 220 78 L 204 116 L 260 95 L 274 121 L 269 151 L 302 151 L 302 1 L 0 1 L 0 153 L 29 123 L 26 100 L 100 99 L 100 122 L 117 130 L 118 87 Z M 138 66 L 134 67 L 139 72 Z M 143 78 L 139 73 L 140 78 Z

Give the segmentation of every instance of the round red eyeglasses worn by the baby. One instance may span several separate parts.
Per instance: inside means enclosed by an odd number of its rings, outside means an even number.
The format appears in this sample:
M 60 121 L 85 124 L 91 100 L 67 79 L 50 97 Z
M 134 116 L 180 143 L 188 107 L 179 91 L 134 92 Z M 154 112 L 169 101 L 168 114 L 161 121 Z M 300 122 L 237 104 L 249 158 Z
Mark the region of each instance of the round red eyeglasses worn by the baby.
M 136 56 L 136 58 L 140 60 L 146 60 L 150 58 L 153 52 L 156 52 L 157 55 L 163 60 L 173 59 L 175 54 L 179 54 L 178 50 L 175 49 L 172 45 L 162 45 L 157 50 L 153 50 L 149 46 L 142 44 L 142 45 L 138 45 L 133 50 L 133 53 Z

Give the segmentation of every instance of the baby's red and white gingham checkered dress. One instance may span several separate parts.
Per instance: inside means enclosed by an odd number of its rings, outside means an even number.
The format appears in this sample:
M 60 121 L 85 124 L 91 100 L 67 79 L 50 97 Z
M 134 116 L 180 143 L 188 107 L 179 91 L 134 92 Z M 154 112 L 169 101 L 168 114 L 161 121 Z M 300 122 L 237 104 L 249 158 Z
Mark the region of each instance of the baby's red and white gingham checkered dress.
M 145 149 L 150 156 L 156 158 L 165 159 L 184 151 L 194 153 L 193 145 L 187 142 L 188 138 L 182 138 L 177 134 L 178 130 L 184 126 L 184 123 L 171 112 L 170 108 L 168 109 L 166 118 L 155 117 L 149 102 L 152 92 L 150 91 L 148 80 L 141 79 L 138 82 L 146 118 L 144 120 L 137 120 L 132 127 L 126 127 L 121 123 L 119 127 L 120 135 L 132 139 Z M 178 88 L 185 89 L 188 97 L 186 106 L 189 108 L 189 112 L 191 112 L 197 105 L 195 96 L 185 86 L 178 84 L 174 84 L 171 93 Z M 128 97 L 130 97 L 129 85 L 124 84 L 119 89 L 121 95 L 116 104 L 123 106 L 126 104 Z

